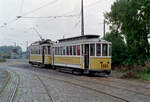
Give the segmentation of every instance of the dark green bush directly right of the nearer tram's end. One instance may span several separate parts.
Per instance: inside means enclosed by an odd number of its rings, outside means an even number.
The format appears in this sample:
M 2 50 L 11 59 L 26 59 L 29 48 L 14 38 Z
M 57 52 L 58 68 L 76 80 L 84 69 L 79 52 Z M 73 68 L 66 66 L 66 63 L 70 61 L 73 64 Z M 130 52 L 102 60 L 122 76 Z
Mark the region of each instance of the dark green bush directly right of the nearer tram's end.
M 126 65 L 125 59 L 127 59 L 128 53 L 123 37 L 111 32 L 107 33 L 104 39 L 112 42 L 112 64 Z

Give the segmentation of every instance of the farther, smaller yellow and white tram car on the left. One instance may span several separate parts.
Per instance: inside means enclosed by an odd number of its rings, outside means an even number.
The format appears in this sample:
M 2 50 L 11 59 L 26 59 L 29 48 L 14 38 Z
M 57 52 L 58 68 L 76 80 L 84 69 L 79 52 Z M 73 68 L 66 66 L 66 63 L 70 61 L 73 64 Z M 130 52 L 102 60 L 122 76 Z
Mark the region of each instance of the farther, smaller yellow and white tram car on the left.
M 37 41 L 29 47 L 29 63 L 41 67 L 52 64 L 52 41 L 47 39 Z

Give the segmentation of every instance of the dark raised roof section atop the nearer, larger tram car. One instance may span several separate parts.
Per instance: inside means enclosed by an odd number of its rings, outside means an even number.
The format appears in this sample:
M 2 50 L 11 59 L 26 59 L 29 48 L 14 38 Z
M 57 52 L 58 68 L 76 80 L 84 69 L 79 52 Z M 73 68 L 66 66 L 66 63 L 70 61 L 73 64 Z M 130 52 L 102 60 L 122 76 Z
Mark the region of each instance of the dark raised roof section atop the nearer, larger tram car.
M 75 40 L 82 40 L 82 39 L 93 39 L 99 38 L 99 35 L 84 35 L 84 36 L 76 36 L 71 38 L 59 39 L 59 42 L 67 42 L 67 41 L 75 41 Z

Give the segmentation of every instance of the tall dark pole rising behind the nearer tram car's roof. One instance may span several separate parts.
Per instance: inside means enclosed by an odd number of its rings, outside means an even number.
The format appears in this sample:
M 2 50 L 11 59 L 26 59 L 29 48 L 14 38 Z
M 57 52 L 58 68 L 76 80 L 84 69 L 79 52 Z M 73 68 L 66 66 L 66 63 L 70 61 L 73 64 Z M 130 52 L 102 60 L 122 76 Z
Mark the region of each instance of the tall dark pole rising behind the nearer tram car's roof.
M 81 0 L 81 36 L 84 36 L 84 4 Z

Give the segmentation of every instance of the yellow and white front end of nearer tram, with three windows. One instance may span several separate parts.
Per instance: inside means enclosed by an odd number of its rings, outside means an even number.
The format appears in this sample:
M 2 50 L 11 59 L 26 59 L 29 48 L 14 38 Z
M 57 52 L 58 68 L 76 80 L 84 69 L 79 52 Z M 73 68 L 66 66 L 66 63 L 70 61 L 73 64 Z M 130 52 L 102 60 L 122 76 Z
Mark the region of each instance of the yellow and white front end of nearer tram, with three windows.
M 111 72 L 111 44 L 110 43 L 96 43 L 90 44 L 90 65 L 91 71 Z

